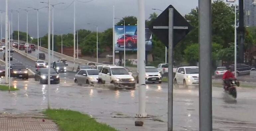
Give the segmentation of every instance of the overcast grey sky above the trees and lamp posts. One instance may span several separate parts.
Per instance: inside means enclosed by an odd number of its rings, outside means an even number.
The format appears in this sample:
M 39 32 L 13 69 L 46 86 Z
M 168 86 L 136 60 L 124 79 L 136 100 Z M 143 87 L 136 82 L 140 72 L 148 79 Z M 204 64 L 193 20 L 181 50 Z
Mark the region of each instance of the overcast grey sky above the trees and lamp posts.
M 27 7 L 41 8 L 47 4 L 40 2 L 47 2 L 47 0 L 8 0 L 9 10 L 28 9 Z M 65 2 L 55 6 L 54 10 L 54 33 L 72 33 L 73 32 L 73 11 L 74 6 L 71 4 L 73 0 L 51 0 L 51 4 Z M 89 0 L 79 0 L 89 1 Z M 169 5 L 173 5 L 183 16 L 188 14 L 192 8 L 198 6 L 198 0 L 145 0 L 146 1 L 146 19 L 149 14 L 160 11 L 152 10 L 157 8 L 160 10 L 166 9 Z M 98 25 L 99 31 L 104 31 L 112 27 L 113 5 L 115 6 L 115 17 L 122 18 L 125 16 L 138 15 L 137 0 L 93 0 L 88 3 L 81 3 L 76 1 L 76 29 L 89 29 L 95 31 L 96 28 L 86 23 L 94 23 Z M 0 10 L 5 10 L 5 0 L 0 0 Z M 37 37 L 37 12 L 36 10 L 29 11 L 29 34 L 32 37 Z M 11 15 L 9 12 L 9 19 Z M 47 33 L 47 8 L 39 11 L 39 34 L 43 36 Z M 116 20 L 115 22 L 118 22 Z M 5 34 L 5 13 L 3 13 L 3 37 Z M 70 29 L 71 28 L 71 29 Z M 18 30 L 18 15 L 13 12 L 13 30 Z M 26 32 L 26 11 L 20 11 L 20 31 Z

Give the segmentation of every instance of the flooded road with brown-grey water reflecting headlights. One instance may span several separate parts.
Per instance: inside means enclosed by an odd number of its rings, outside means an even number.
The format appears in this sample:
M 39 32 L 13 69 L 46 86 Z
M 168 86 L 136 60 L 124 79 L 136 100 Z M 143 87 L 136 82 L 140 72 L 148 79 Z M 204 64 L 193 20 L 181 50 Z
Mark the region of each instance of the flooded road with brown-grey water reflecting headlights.
M 0 92 L 0 112 L 39 112 L 47 108 L 47 85 L 30 78 L 12 80 L 19 88 L 16 92 Z M 113 90 L 112 85 L 77 86 L 72 79 L 51 85 L 51 108 L 72 109 L 87 113 L 97 121 L 119 130 L 125 124 L 134 125 L 138 112 L 138 87 L 135 90 Z M 146 118 L 143 127 L 130 130 L 167 130 L 167 84 L 147 84 Z M 223 93 L 222 88 L 212 90 L 213 129 L 217 131 L 256 130 L 256 90 L 238 88 L 237 100 Z M 174 89 L 174 130 L 199 129 L 198 87 Z M 158 126 L 151 125 L 156 123 Z

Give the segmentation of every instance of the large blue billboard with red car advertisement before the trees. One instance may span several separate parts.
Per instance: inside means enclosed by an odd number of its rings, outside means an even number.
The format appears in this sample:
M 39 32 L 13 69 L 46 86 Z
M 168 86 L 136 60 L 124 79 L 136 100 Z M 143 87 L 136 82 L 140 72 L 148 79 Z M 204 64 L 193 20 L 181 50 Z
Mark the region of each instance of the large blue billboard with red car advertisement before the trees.
M 146 51 L 151 51 L 152 33 L 149 29 L 145 31 Z M 115 51 L 124 51 L 124 43 L 126 51 L 137 51 L 137 26 L 125 26 L 125 38 L 124 26 L 115 26 Z

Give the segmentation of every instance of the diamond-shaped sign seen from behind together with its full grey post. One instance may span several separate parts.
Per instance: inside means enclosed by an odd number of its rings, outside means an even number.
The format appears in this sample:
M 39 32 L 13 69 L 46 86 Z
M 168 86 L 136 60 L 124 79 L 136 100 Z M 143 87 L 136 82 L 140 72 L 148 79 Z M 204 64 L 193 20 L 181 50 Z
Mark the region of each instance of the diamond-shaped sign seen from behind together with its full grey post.
M 150 29 L 163 43 L 168 43 L 168 131 L 173 131 L 173 49 L 189 33 L 192 26 L 170 5 L 153 22 Z

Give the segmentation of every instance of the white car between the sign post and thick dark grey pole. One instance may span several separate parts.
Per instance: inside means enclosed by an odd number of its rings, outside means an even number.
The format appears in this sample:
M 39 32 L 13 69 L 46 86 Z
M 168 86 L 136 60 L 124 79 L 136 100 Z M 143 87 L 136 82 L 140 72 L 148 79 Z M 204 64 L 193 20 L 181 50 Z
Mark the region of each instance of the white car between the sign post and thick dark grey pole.
M 179 67 L 174 78 L 175 85 L 199 85 L 199 68 L 198 66 Z

